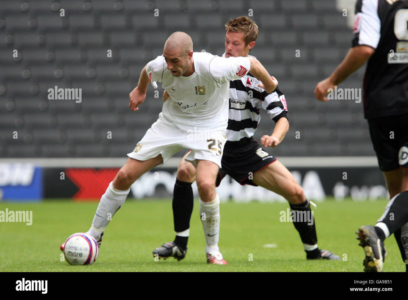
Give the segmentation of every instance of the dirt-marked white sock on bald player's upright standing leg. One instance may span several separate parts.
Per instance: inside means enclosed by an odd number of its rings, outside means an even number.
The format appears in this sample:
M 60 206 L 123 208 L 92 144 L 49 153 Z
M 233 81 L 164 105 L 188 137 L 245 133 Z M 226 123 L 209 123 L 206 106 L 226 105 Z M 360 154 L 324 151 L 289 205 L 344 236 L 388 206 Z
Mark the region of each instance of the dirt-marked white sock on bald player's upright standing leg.
M 205 215 L 203 215 L 203 213 Z M 218 194 L 211 202 L 203 202 L 200 199 L 200 218 L 203 224 L 206 240 L 206 253 L 220 251 L 218 240 L 220 239 L 220 196 Z M 205 220 L 203 220 L 205 219 Z

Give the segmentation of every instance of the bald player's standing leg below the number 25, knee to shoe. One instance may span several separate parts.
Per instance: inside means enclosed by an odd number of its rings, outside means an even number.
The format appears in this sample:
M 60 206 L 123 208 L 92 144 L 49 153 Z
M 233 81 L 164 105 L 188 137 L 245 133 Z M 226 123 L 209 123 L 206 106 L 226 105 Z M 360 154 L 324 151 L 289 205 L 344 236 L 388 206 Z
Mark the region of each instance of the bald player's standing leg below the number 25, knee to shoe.
M 227 264 L 218 247 L 220 238 L 220 196 L 215 191 L 218 165 L 209 160 L 197 160 L 196 182 L 200 194 L 200 218 L 206 239 L 207 262 Z

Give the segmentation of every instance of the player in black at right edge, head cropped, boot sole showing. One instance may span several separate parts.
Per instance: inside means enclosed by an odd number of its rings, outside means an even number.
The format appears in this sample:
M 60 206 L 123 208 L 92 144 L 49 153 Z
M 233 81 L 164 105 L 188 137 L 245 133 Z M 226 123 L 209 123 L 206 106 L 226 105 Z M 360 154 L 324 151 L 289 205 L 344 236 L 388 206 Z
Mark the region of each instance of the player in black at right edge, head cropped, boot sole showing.
M 368 60 L 364 116 L 391 200 L 375 227 L 362 226 L 357 234 L 365 271 L 382 271 L 384 240 L 392 233 L 408 270 L 408 1 L 357 0 L 353 33 L 353 47 L 315 95 L 327 101 L 328 89 Z

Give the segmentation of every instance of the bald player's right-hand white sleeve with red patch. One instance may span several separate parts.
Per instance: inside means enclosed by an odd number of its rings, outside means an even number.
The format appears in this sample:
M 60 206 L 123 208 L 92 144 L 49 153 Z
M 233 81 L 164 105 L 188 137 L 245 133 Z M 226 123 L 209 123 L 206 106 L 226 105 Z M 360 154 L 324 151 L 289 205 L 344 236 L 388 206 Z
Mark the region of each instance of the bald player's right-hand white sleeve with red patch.
M 247 57 L 223 58 L 214 56 L 209 63 L 209 71 L 214 80 L 220 84 L 234 81 L 248 73 L 251 61 Z

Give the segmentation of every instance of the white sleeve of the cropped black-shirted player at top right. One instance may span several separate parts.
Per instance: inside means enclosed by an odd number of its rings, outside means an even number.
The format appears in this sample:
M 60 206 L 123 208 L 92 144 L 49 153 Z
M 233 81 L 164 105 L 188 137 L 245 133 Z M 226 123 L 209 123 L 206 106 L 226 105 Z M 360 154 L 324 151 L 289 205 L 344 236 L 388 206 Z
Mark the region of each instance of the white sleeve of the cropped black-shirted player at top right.
M 381 21 L 377 9 L 378 1 L 376 0 L 357 1 L 353 46 L 367 45 L 374 49 L 377 48 L 381 36 Z

